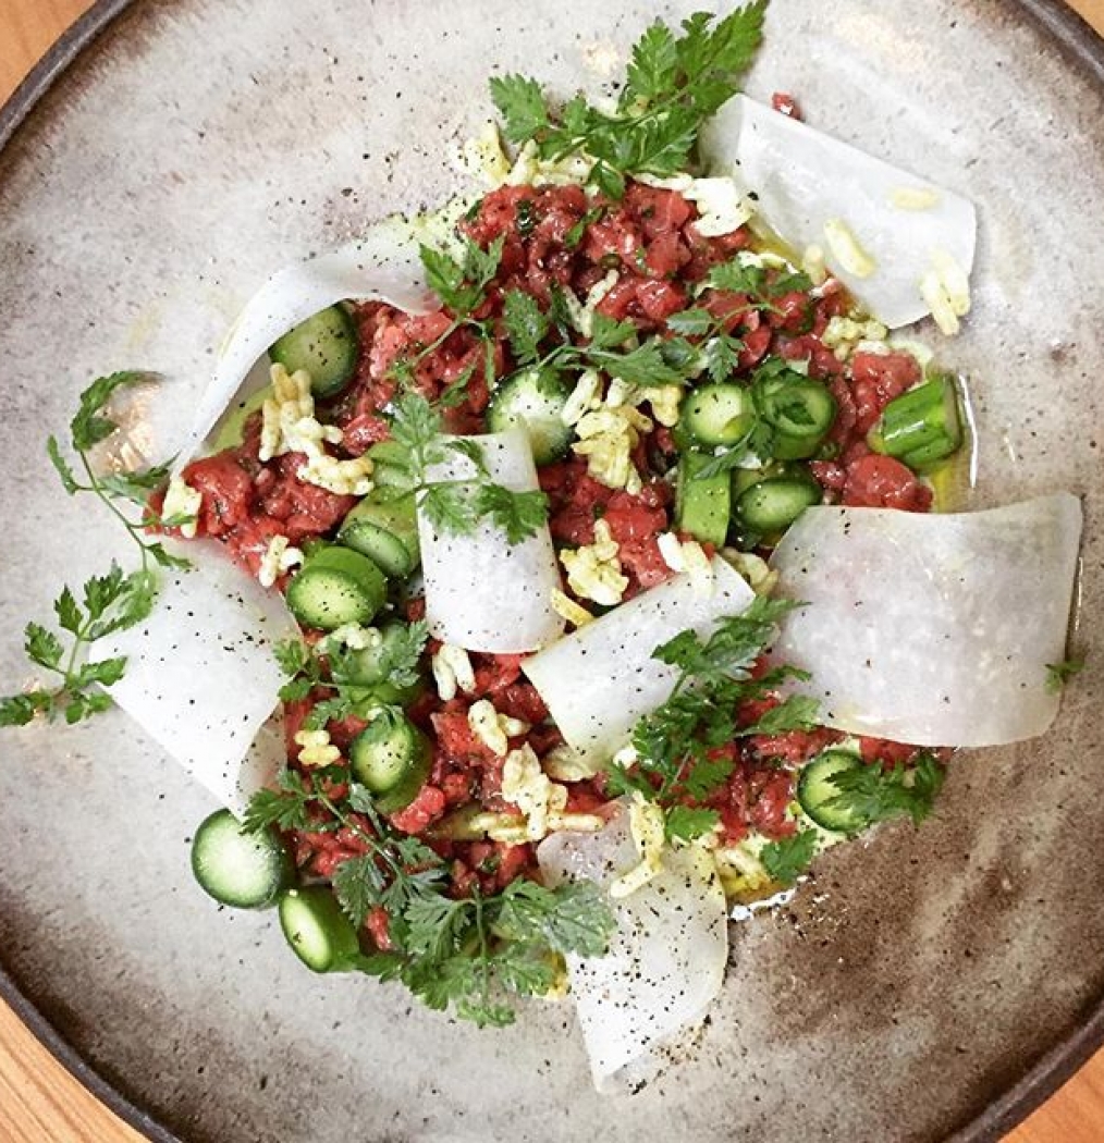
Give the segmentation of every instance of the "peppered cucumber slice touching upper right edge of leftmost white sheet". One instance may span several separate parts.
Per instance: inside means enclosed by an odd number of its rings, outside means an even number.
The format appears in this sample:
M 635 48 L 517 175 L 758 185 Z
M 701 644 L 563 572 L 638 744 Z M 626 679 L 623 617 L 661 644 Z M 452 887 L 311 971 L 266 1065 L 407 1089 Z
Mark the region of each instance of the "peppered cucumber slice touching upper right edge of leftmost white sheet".
M 387 598 L 387 581 L 367 555 L 325 547 L 288 585 L 291 614 L 307 628 L 334 631 L 345 623 L 370 623 Z

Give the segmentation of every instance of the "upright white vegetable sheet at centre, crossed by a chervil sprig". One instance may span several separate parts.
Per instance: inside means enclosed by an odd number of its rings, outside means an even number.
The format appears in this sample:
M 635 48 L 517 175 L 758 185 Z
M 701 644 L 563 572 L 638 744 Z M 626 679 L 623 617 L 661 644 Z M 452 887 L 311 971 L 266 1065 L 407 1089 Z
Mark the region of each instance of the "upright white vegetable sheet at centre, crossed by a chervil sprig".
M 491 479 L 511 491 L 539 487 L 523 429 L 469 437 L 482 449 Z M 430 480 L 471 480 L 475 465 L 459 453 L 431 467 Z M 514 654 L 558 638 L 563 620 L 552 607 L 560 573 L 547 525 L 511 544 L 485 521 L 470 535 L 438 531 L 418 511 L 425 618 L 442 642 L 467 650 Z

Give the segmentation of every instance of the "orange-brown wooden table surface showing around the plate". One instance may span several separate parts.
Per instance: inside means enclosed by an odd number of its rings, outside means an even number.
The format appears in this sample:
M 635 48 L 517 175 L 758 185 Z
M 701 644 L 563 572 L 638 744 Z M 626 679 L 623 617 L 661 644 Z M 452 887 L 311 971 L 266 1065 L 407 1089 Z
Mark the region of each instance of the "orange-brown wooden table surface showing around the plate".
M 91 0 L 0 0 L 0 103 L 62 31 L 89 7 Z M 1104 0 L 1073 0 L 1073 7 L 1104 32 Z M 0 1002 L 0 1143 L 139 1143 L 139 1140 Z M 1101 1143 L 1102 1140 L 1104 1052 L 1007 1136 L 1005 1143 Z

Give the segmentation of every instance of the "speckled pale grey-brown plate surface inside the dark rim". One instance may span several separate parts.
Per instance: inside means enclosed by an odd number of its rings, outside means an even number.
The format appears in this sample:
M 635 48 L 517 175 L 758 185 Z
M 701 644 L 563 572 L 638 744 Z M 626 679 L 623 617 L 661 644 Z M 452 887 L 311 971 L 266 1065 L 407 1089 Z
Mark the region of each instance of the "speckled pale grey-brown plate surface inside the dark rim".
M 456 185 L 488 70 L 594 86 L 694 7 L 98 6 L 0 119 L 0 678 L 23 679 L 24 620 L 113 550 L 42 451 L 91 376 L 159 370 L 159 409 L 186 415 L 269 271 Z M 979 205 L 975 313 L 943 350 L 975 383 L 974 503 L 1086 494 L 1091 654 L 1102 46 L 1057 5 L 995 0 L 775 0 L 769 32 L 753 94 L 794 91 Z M 961 757 L 934 823 L 834 852 L 791 911 L 735 927 L 697 1057 L 629 1100 L 591 1092 L 567 1007 L 480 1033 L 218 913 L 187 868 L 208 800 L 117 716 L 2 738 L 0 983 L 153 1138 L 995 1138 L 1104 1039 L 1102 712 L 1097 666 L 1046 741 Z

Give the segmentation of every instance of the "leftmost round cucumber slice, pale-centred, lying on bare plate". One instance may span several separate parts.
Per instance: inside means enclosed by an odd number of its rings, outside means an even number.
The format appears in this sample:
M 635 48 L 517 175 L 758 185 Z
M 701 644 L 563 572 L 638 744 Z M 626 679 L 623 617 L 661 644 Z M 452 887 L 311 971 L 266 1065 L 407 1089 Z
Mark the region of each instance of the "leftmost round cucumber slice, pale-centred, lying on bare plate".
M 295 869 L 274 831 L 246 833 L 229 809 L 219 809 L 195 831 L 192 873 L 224 905 L 267 909 L 291 885 Z

